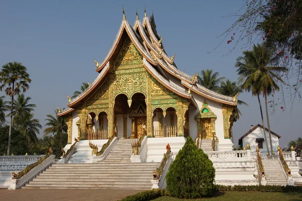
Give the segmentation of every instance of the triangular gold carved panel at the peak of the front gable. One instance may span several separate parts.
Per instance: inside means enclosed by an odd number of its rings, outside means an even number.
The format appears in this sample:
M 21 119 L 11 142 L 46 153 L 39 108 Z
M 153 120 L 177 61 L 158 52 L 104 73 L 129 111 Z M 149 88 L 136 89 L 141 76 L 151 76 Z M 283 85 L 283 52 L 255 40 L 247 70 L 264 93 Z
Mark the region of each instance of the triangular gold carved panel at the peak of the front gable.
M 115 66 L 130 64 L 142 64 L 142 55 L 137 51 L 130 38 L 127 38 L 115 61 Z

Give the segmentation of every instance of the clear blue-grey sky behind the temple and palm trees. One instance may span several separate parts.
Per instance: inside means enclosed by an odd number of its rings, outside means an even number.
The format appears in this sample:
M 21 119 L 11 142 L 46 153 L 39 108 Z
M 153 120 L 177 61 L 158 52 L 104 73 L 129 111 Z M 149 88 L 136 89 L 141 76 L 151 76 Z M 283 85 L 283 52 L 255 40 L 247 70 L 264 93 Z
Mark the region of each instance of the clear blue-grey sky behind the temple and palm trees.
M 79 90 L 82 82 L 97 77 L 94 59 L 102 61 L 110 49 L 122 21 L 122 5 L 127 20 L 133 24 L 137 9 L 142 19 L 155 15 L 158 33 L 169 56 L 176 54 L 177 67 L 193 75 L 202 69 L 213 69 L 220 76 L 237 80 L 234 64 L 241 46 L 231 54 L 233 44 L 217 38 L 236 18 L 224 17 L 242 6 L 240 0 L 228 1 L 1 1 L 0 64 L 22 62 L 32 83 L 26 92 L 37 105 L 35 117 L 44 127 L 47 114 L 54 115 L 57 106 L 67 105 L 67 93 Z M 231 37 L 231 36 L 230 36 Z M 236 37 L 236 36 L 235 36 Z M 242 44 L 241 44 L 242 45 Z M 0 92 L 3 95 L 4 92 Z M 234 124 L 235 144 L 250 125 L 261 123 L 256 97 L 240 94 L 249 104 L 242 106 L 241 119 Z M 286 100 L 286 111 L 280 106 L 270 115 L 271 130 L 279 134 L 280 145 L 302 136 L 302 107 Z M 263 102 L 264 107 L 264 102 Z M 44 127 L 45 128 L 45 127 Z

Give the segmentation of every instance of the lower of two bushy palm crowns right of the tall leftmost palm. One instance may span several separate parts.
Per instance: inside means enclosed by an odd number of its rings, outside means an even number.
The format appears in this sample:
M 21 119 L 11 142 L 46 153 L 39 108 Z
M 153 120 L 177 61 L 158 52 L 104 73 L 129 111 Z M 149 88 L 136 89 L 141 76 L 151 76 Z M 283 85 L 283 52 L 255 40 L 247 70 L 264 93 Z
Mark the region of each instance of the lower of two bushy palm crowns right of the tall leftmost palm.
M 25 135 L 28 144 L 34 144 L 37 142 L 37 133 L 40 134 L 42 126 L 38 119 L 34 119 L 34 115 L 30 113 L 24 113 L 22 116 L 22 123 L 19 123 L 18 131 Z

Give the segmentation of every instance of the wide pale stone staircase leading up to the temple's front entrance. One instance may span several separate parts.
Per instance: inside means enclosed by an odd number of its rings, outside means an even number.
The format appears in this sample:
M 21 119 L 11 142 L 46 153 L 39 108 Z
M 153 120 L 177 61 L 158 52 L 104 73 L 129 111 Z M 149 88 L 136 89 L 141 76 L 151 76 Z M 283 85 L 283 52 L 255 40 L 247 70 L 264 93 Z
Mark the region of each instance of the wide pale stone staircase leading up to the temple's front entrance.
M 119 140 L 102 162 L 53 164 L 22 188 L 150 189 L 160 163 L 131 163 L 131 142 Z

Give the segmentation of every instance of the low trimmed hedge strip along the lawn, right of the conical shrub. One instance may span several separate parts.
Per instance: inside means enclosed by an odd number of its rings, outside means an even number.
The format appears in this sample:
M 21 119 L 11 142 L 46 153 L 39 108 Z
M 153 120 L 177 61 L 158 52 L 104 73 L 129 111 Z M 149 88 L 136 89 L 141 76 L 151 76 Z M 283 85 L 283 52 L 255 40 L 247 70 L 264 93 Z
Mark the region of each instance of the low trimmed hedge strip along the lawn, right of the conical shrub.
M 280 185 L 216 185 L 218 191 L 302 192 L 302 186 Z

